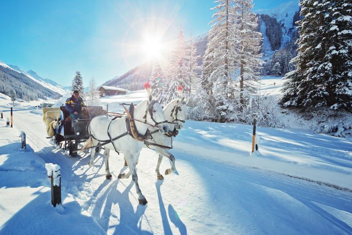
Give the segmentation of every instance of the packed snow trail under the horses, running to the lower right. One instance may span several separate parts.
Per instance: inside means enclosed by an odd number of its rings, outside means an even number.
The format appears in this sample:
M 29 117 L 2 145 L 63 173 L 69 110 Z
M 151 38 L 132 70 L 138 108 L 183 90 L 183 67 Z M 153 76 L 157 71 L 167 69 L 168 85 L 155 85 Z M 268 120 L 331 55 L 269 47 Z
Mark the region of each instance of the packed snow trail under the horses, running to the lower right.
M 193 122 L 186 123 L 197 129 Z M 215 161 L 203 156 L 203 152 L 188 153 L 187 148 L 183 149 L 182 139 L 193 140 L 191 143 L 197 149 L 197 138 L 201 136 L 190 136 L 187 129 L 180 132 L 181 140 L 171 150 L 177 159 L 179 175 L 164 176 L 164 181 L 157 181 L 154 172 L 157 155 L 149 149 L 142 150 L 137 173 L 148 204 L 141 206 L 132 179 L 117 179 L 124 163 L 123 154 L 111 153 L 113 179 L 106 180 L 102 154 L 89 168 L 86 154 L 68 158 L 60 150 L 54 150 L 46 139 L 40 115 L 15 110 L 14 127 L 26 132 L 27 144 L 46 163 L 60 165 L 62 190 L 74 195 L 109 234 L 352 233 L 352 193 Z M 213 129 L 218 127 L 215 125 Z M 311 136 L 317 142 L 322 141 L 320 137 Z M 219 150 L 220 159 L 221 154 Z M 160 169 L 168 167 L 168 161 L 164 160 Z M 17 218 L 21 218 L 20 212 L 11 219 Z

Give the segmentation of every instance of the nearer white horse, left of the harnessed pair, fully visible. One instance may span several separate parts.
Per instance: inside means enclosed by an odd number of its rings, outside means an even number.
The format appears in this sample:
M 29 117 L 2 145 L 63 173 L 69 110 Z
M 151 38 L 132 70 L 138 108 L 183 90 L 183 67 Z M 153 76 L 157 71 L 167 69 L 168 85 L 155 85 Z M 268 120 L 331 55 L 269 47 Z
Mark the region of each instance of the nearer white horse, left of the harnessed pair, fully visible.
M 148 100 L 141 102 L 134 108 L 135 126 L 139 134 L 144 135 L 151 125 L 157 126 L 161 133 L 167 133 L 169 131 L 169 126 L 166 123 L 166 118 L 163 114 L 160 104 L 153 100 L 153 96 L 149 94 Z M 138 162 L 139 154 L 143 148 L 144 142 L 138 141 L 131 135 L 127 134 L 126 118 L 122 117 L 115 120 L 109 119 L 106 116 L 97 116 L 92 119 L 90 123 L 90 134 L 92 138 L 87 141 L 82 150 L 89 146 L 96 146 L 102 140 L 114 139 L 120 135 L 122 137 L 108 143 L 105 146 L 104 156 L 105 156 L 105 171 L 107 173 L 106 178 L 110 179 L 112 177 L 109 170 L 109 153 L 110 150 L 117 150 L 124 153 L 124 158 L 127 161 L 130 172 L 132 173 L 132 180 L 135 183 L 136 191 L 138 194 L 139 204 L 145 205 L 147 200 L 143 196 L 139 185 L 138 177 L 136 173 L 136 162 Z M 110 137 L 109 137 L 109 134 Z M 101 141 L 99 141 L 101 140 Z M 81 150 L 81 151 L 82 151 Z M 91 161 L 90 166 L 94 164 L 94 156 L 99 153 L 100 148 L 91 148 Z

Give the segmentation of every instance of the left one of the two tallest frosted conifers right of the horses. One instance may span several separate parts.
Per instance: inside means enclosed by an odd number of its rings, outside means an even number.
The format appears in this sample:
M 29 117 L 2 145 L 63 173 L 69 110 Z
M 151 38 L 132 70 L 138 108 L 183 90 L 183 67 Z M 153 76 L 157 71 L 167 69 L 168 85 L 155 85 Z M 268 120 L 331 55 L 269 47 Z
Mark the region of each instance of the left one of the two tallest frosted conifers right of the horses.
M 233 9 L 235 0 L 217 0 L 219 5 L 212 10 L 216 11 L 208 34 L 207 49 L 204 54 L 202 66 L 201 84 L 205 93 L 209 94 L 207 101 L 200 99 L 202 103 L 211 104 L 209 114 L 216 114 L 213 118 L 223 121 L 226 115 L 232 111 L 229 87 L 233 81 L 237 64 L 235 37 L 236 29 L 234 21 L 236 12 Z M 213 111 L 213 109 L 215 109 Z

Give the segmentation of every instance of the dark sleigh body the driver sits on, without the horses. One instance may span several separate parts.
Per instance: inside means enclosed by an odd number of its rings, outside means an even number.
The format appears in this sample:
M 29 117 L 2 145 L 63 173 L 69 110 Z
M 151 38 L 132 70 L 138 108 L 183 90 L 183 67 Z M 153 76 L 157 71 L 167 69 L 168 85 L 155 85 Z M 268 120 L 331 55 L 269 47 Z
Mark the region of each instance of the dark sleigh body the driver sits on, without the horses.
M 50 108 L 47 109 L 50 111 Z M 58 111 L 56 111 L 58 112 Z M 68 155 L 74 157 L 77 155 L 78 144 L 85 142 L 89 138 L 88 124 L 92 118 L 98 115 L 106 114 L 101 106 L 88 106 L 84 110 L 82 118 L 76 119 L 71 126 L 71 117 L 66 110 L 65 106 L 60 107 L 60 116 L 54 120 L 52 128 L 54 128 L 54 135 L 51 136 L 51 142 L 56 146 L 59 146 L 65 152 L 68 151 Z

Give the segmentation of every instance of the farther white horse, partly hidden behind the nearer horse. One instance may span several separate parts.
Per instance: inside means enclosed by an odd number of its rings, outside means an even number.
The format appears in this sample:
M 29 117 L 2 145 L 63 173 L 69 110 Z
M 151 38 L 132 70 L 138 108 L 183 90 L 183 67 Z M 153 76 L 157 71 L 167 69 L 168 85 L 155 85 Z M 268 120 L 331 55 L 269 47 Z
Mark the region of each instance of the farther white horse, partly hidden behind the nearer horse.
M 178 132 L 178 130 L 184 128 L 184 122 L 186 118 L 187 104 L 190 101 L 190 98 L 182 97 L 181 99 L 175 99 L 169 102 L 164 108 L 164 115 L 169 122 L 170 131 L 166 134 L 160 133 L 156 128 L 150 128 L 152 139 L 148 140 L 148 142 L 156 143 L 163 146 L 170 146 L 171 144 L 171 136 L 172 133 Z M 156 132 L 157 131 L 157 132 Z M 154 132 L 154 133 L 153 133 Z M 173 173 L 176 171 L 175 167 L 175 158 L 172 153 L 170 153 L 167 149 L 154 146 L 154 145 L 146 145 L 148 148 L 153 149 L 159 154 L 158 162 L 156 165 L 155 173 L 158 180 L 163 180 L 164 177 L 160 174 L 160 164 L 163 156 L 166 156 L 171 161 L 171 168 L 165 170 L 165 175 Z M 126 165 L 126 162 L 125 162 Z M 127 163 L 128 165 L 128 163 Z M 126 165 L 126 166 L 127 166 Z M 120 174 L 119 178 L 128 178 L 130 176 L 130 172 L 127 174 Z

